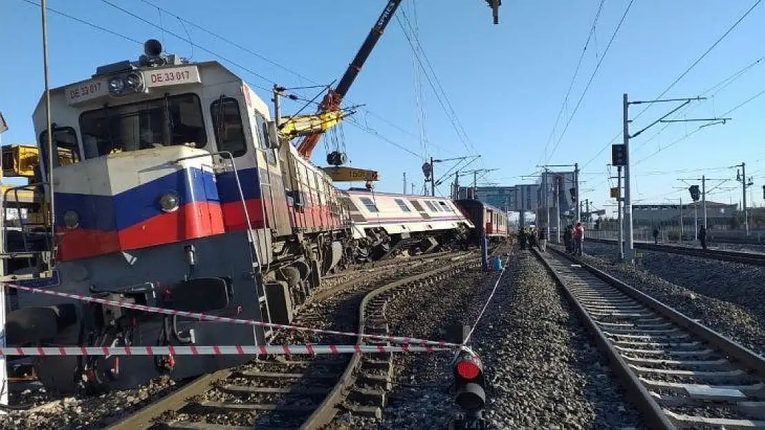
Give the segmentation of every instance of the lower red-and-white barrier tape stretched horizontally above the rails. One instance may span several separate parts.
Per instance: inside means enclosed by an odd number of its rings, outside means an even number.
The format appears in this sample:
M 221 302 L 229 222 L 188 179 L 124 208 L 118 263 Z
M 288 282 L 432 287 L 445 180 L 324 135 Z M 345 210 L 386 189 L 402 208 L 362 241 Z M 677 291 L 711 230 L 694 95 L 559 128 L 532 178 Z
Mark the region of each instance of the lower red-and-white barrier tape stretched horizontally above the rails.
M 155 346 L 155 347 L 10 347 L 0 348 L 3 356 L 63 357 L 67 355 L 329 355 L 376 354 L 386 352 L 435 352 L 451 348 L 409 347 L 386 345 L 213 345 L 213 346 Z

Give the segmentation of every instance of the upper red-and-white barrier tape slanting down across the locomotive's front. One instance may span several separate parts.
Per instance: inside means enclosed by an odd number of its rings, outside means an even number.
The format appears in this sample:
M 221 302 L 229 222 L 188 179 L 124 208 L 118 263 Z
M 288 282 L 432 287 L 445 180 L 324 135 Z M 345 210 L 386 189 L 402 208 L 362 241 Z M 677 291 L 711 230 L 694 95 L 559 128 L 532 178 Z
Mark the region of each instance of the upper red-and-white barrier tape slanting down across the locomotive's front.
M 258 325 L 260 327 L 283 328 L 285 330 L 293 330 L 293 331 L 308 331 L 311 333 L 317 333 L 321 335 L 353 336 L 353 337 L 360 337 L 360 338 L 366 338 L 366 339 L 373 339 L 377 341 L 389 341 L 394 344 L 421 344 L 421 345 L 438 347 L 438 348 L 444 348 L 444 347 L 449 347 L 452 349 L 461 348 L 460 344 L 454 344 L 447 341 L 428 341 L 425 339 L 406 338 L 403 336 L 367 335 L 362 333 L 352 333 L 350 331 L 334 331 L 334 330 L 324 330 L 322 328 L 300 327 L 298 325 L 283 325 L 283 324 L 275 324 L 273 322 L 256 321 L 254 319 L 229 318 L 226 316 L 207 315 L 207 314 L 198 313 L 198 312 L 186 312 L 186 311 L 177 311 L 174 309 L 155 308 L 153 306 L 137 305 L 135 303 L 119 302 L 116 300 L 99 299 L 97 297 L 80 296 L 78 294 L 71 294 L 71 293 L 61 293 L 58 291 L 39 289 L 39 288 L 31 287 L 31 286 L 21 286 L 21 285 L 16 285 L 12 283 L 5 283 L 5 286 L 15 288 L 15 289 L 21 289 L 23 291 L 28 291 L 30 293 L 41 293 L 41 294 L 47 294 L 48 296 L 57 296 L 57 297 L 63 297 L 66 299 L 80 300 L 82 302 L 93 302 L 93 303 L 99 303 L 102 305 L 117 306 L 120 308 L 134 309 L 134 310 L 144 311 L 144 312 L 184 316 L 187 318 L 198 319 L 200 321 L 230 322 L 232 324 Z

